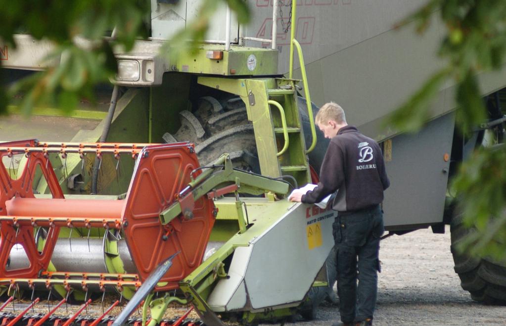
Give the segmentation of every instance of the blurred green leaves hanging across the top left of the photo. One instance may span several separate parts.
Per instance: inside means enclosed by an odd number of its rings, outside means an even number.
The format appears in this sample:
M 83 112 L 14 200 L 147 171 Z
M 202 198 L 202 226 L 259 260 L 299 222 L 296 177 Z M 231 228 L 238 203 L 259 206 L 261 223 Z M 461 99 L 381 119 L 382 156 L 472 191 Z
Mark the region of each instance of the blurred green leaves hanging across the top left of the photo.
M 177 3 L 175 0 L 174 3 Z M 204 0 L 198 17 L 171 43 L 179 53 L 203 39 L 209 18 L 227 3 L 240 22 L 249 17 L 242 0 Z M 0 44 L 15 47 L 15 33 L 26 33 L 55 45 L 46 58 L 49 67 L 8 85 L 0 69 L 0 114 L 7 114 L 8 100 L 23 94 L 21 110 L 30 114 L 37 105 L 72 111 L 79 100 L 95 102 L 94 87 L 109 83 L 117 71 L 113 49 L 132 49 L 136 38 L 146 38 L 150 21 L 149 0 L 73 0 L 4 2 L 0 6 Z M 104 37 L 111 35 L 112 37 Z M 187 42 L 187 40 L 194 40 Z M 171 54 L 172 56 L 172 54 Z M 4 75 L 4 78 L 3 78 Z

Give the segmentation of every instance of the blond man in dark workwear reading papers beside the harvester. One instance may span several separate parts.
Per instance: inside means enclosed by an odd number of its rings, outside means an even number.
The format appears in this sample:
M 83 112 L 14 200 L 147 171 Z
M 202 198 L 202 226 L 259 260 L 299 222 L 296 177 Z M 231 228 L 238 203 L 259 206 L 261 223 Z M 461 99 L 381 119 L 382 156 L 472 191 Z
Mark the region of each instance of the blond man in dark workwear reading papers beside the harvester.
M 379 204 L 388 180 L 379 145 L 348 126 L 345 112 L 333 102 L 324 104 L 315 122 L 330 138 L 318 186 L 289 200 L 319 202 L 337 191 L 332 209 L 337 249 L 337 279 L 342 322 L 333 325 L 372 325 L 379 271 L 379 237 L 384 232 Z M 358 279 L 358 287 L 357 287 Z

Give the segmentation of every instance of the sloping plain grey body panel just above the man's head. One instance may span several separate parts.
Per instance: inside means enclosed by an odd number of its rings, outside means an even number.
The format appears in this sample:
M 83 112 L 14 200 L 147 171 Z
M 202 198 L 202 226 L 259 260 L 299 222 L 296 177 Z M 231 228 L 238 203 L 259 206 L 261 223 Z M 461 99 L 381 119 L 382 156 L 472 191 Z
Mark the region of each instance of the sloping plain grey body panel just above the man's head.
M 312 101 L 339 103 L 348 122 L 359 127 L 385 117 L 441 68 L 435 55 L 440 28 L 433 18 L 423 37 L 406 26 L 306 64 Z M 441 115 L 443 109 L 434 113 Z

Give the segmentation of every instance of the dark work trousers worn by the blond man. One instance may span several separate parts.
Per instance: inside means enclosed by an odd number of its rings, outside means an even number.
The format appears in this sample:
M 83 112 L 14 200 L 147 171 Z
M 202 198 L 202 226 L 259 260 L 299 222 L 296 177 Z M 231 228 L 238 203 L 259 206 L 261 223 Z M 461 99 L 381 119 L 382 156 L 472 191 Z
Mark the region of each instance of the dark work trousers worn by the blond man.
M 383 212 L 379 205 L 340 213 L 335 219 L 333 235 L 337 249 L 339 310 L 343 322 L 363 321 L 374 314 L 380 269 L 379 238 L 384 231 Z

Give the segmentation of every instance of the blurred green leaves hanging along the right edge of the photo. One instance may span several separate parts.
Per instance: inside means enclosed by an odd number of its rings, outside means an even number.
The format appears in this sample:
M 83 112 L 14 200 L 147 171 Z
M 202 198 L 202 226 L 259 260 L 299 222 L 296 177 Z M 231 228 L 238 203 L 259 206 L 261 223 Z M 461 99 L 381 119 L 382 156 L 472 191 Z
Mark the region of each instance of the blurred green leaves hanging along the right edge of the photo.
M 450 80 L 456 86 L 457 128 L 469 136 L 487 120 L 477 74 L 500 70 L 504 64 L 506 2 L 430 0 L 400 25 L 414 23 L 416 31 L 424 33 L 434 15 L 445 27 L 438 51 L 444 65 L 392 114 L 389 122 L 401 131 L 420 130 L 431 116 L 431 101 Z M 462 164 L 452 187 L 465 223 L 478 230 L 460 249 L 506 258 L 506 148 L 477 150 Z

